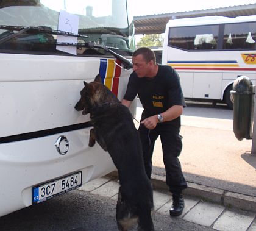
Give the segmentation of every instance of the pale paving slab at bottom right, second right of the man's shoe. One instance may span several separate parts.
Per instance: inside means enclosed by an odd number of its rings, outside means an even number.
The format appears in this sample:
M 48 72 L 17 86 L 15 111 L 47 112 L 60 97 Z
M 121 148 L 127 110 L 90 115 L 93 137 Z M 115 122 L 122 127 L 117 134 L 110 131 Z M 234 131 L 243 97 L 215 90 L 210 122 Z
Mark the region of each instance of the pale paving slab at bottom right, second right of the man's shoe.
M 215 222 L 213 228 L 225 231 L 246 231 L 254 220 L 254 217 L 250 213 L 246 215 L 234 211 L 224 211 L 218 221 Z

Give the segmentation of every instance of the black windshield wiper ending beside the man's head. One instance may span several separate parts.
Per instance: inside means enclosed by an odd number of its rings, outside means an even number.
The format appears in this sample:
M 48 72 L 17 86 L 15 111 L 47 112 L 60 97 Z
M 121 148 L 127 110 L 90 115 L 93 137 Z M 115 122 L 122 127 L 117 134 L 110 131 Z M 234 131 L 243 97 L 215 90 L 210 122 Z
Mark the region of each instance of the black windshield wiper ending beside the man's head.
M 49 43 L 48 43 L 49 44 Z M 110 52 L 110 54 L 112 54 L 116 59 L 120 60 L 123 65 L 124 68 L 126 69 L 130 69 L 133 68 L 133 64 L 132 62 L 130 62 L 129 59 L 126 59 L 126 57 L 117 54 L 115 51 L 112 51 L 112 49 L 115 50 L 119 50 L 118 48 L 114 48 L 111 46 L 102 46 L 96 43 L 54 43 L 57 46 L 76 46 L 78 48 L 100 48 L 100 49 L 104 49 L 107 52 Z

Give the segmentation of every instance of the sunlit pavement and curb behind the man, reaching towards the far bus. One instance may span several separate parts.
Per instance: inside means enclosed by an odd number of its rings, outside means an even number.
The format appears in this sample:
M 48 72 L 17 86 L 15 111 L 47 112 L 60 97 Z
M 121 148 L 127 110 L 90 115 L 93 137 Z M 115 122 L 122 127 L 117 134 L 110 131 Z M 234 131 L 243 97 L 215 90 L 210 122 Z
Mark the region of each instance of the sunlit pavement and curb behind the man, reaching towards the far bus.
M 141 112 L 137 107 L 138 120 Z M 256 155 L 251 154 L 251 140 L 236 140 L 233 111 L 188 106 L 182 115 L 181 135 L 183 151 L 179 159 L 189 186 L 184 193 L 256 213 Z M 155 186 L 166 189 L 159 138 L 152 162 Z

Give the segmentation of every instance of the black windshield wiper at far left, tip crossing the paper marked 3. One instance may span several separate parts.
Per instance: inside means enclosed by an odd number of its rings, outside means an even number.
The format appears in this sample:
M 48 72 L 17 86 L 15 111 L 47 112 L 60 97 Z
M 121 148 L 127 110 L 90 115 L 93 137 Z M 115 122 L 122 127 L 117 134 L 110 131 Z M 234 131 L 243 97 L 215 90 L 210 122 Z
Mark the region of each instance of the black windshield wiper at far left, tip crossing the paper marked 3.
M 0 29 L 4 30 L 15 30 L 18 31 L 15 34 L 7 35 L 7 37 L 1 38 L 0 39 L 0 44 L 4 43 L 5 41 L 11 40 L 12 38 L 16 38 L 20 36 L 21 34 L 29 33 L 29 34 L 52 34 L 52 35 L 65 35 L 65 36 L 74 36 L 74 37 L 84 37 L 88 38 L 87 35 L 81 35 L 81 34 L 74 34 L 70 32 L 65 32 L 62 30 L 53 30 L 51 27 L 48 26 L 39 26 L 39 27 L 24 27 L 24 26 L 5 26 L 5 25 L 0 25 Z

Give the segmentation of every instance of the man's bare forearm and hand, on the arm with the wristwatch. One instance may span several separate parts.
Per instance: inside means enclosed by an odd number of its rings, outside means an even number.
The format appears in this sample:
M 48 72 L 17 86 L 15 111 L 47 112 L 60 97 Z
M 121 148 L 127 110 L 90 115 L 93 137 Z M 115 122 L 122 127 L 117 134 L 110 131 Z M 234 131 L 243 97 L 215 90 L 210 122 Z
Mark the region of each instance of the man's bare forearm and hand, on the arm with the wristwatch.
M 165 112 L 161 113 L 161 115 L 163 116 L 163 122 L 166 122 L 166 121 L 171 121 L 173 119 L 178 118 L 180 115 L 182 115 L 182 113 L 183 113 L 183 106 L 174 105 L 170 107 L 168 110 L 166 110 Z M 141 121 L 141 124 L 144 124 L 144 126 L 147 129 L 154 129 L 155 126 L 157 126 L 157 123 L 159 123 L 157 115 L 148 117 L 143 121 Z

